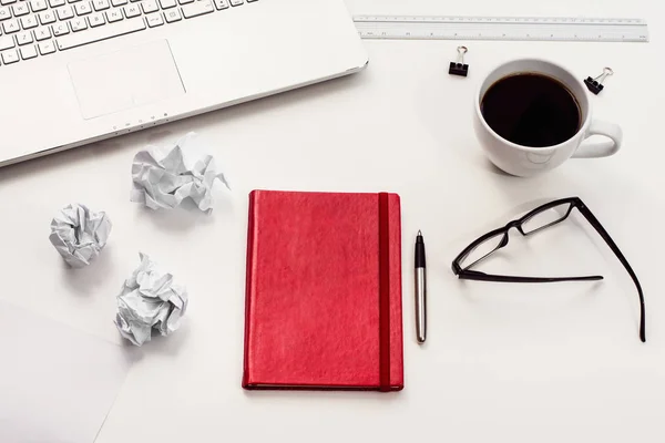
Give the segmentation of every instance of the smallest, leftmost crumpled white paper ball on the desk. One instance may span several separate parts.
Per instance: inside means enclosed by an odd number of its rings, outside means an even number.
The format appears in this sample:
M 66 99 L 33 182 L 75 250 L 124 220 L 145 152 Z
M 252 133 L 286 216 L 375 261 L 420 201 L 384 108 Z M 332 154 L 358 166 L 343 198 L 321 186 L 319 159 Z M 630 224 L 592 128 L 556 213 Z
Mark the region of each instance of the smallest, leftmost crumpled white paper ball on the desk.
M 49 240 L 64 261 L 82 268 L 100 255 L 111 234 L 111 220 L 105 213 L 71 204 L 51 220 Z

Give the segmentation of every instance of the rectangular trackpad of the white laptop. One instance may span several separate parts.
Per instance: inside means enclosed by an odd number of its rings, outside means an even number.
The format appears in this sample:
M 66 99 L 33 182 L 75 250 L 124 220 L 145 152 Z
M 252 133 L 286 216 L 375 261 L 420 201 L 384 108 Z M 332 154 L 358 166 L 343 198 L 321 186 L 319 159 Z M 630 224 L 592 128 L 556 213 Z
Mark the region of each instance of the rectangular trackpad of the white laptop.
M 185 93 L 166 40 L 69 64 L 83 119 Z

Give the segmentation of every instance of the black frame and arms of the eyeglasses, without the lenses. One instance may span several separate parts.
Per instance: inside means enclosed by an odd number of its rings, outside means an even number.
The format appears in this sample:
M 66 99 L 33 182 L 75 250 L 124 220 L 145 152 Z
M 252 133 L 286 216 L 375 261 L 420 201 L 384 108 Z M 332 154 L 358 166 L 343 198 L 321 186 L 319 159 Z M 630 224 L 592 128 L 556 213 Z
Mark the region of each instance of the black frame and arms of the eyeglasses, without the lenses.
M 538 229 L 531 230 L 531 231 L 524 231 L 524 224 L 528 223 L 530 219 L 532 219 L 533 217 L 535 217 L 536 215 L 539 215 L 540 213 L 543 213 L 548 209 L 552 209 L 555 208 L 557 206 L 563 206 L 563 205 L 570 205 L 565 215 L 563 215 L 560 219 L 556 219 L 554 222 L 551 222 L 542 227 L 539 227 Z M 591 226 L 594 227 L 594 229 L 598 233 L 598 235 L 603 238 L 603 240 L 605 240 L 605 243 L 607 244 L 607 246 L 612 249 L 612 251 L 616 255 L 616 258 L 618 258 L 618 260 L 621 261 L 621 264 L 624 266 L 624 268 L 626 269 L 626 271 L 631 275 L 631 278 L 633 279 L 633 282 L 635 284 L 635 287 L 637 288 L 637 295 L 640 296 L 640 339 L 645 342 L 646 341 L 646 334 L 645 334 L 645 308 L 644 308 L 644 295 L 642 292 L 642 286 L 640 285 L 640 281 L 637 280 L 637 276 L 635 275 L 635 272 L 633 271 L 633 268 L 631 267 L 631 265 L 628 264 L 628 261 L 626 260 L 626 258 L 624 257 L 624 255 L 622 254 L 622 251 L 618 249 L 618 246 L 616 246 L 616 244 L 614 243 L 614 240 L 612 239 L 612 237 L 610 237 L 610 234 L 607 234 L 607 231 L 605 230 L 605 228 L 603 227 L 603 225 L 601 225 L 601 223 L 598 222 L 598 219 L 593 215 L 593 213 L 591 212 L 591 209 L 589 209 L 589 207 L 584 204 L 584 202 L 582 202 L 582 199 L 580 197 L 569 197 L 569 198 L 561 198 L 554 202 L 550 202 L 546 203 L 542 206 L 536 207 L 535 209 L 531 210 L 530 213 L 528 213 L 526 215 L 524 215 L 521 218 L 518 218 L 516 220 L 512 220 L 510 223 L 508 223 L 505 226 L 494 229 L 481 237 L 479 237 L 478 239 L 475 239 L 473 243 L 471 243 L 469 246 L 467 246 L 467 248 L 464 248 L 464 250 L 462 250 L 460 253 L 460 255 L 458 255 L 456 257 L 456 259 L 452 261 L 452 271 L 454 272 L 456 276 L 458 276 L 461 279 L 464 280 L 479 280 L 479 281 L 499 281 L 499 282 L 529 282 L 529 284 L 535 284 L 535 282 L 557 282 L 557 281 L 594 281 L 594 280 L 602 280 L 603 276 L 585 276 L 585 277 L 521 277 L 521 276 L 500 276 L 500 275 L 493 275 L 493 274 L 485 274 L 485 272 L 481 272 L 478 270 L 472 270 L 470 269 L 472 266 L 477 265 L 478 262 L 484 260 L 487 257 L 489 257 L 490 255 L 492 255 L 493 253 L 495 253 L 497 250 L 505 247 L 508 245 L 509 241 L 509 231 L 512 228 L 515 228 L 521 235 L 523 236 L 530 236 L 533 235 L 542 229 L 549 228 L 551 226 L 557 225 L 561 222 L 565 220 L 572 213 L 573 208 L 577 208 L 577 210 L 580 212 L 580 214 L 582 214 L 584 216 L 584 218 L 586 218 L 586 220 L 591 224 Z M 490 238 L 494 238 L 498 237 L 500 235 L 503 235 L 503 238 L 501 239 L 501 241 L 498 244 L 498 246 L 491 250 L 490 253 L 485 254 L 483 257 L 481 257 L 480 259 L 473 261 L 472 264 L 462 267 L 461 262 L 464 260 L 464 258 L 467 258 L 469 256 L 469 254 L 471 254 L 478 246 L 482 245 L 484 241 L 487 241 Z

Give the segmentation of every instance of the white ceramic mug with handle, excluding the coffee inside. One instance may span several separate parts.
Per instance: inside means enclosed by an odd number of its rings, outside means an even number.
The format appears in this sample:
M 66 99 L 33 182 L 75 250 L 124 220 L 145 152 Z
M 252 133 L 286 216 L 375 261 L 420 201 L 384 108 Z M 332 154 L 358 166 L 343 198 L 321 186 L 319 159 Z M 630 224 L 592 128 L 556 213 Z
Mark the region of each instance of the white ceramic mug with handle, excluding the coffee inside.
M 518 73 L 541 73 L 559 80 L 575 96 L 580 105 L 582 125 L 567 141 L 554 146 L 522 146 L 501 137 L 485 122 L 480 104 L 492 84 L 508 75 Z M 589 91 L 584 84 L 566 69 L 538 59 L 519 59 L 500 64 L 480 83 L 474 95 L 475 134 L 481 146 L 499 168 L 509 174 L 530 177 L 561 165 L 571 157 L 594 158 L 615 154 L 621 147 L 623 133 L 614 123 L 592 120 L 592 106 Z M 610 140 L 586 141 L 591 135 L 604 135 Z

